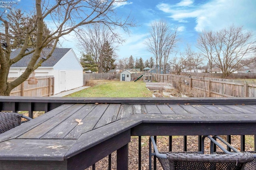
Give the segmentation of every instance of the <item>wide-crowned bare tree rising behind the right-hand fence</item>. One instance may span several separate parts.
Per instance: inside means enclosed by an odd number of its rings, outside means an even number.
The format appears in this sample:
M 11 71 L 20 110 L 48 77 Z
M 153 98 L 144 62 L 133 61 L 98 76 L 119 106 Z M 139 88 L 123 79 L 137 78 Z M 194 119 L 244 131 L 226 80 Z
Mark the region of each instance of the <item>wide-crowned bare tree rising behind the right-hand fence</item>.
M 255 53 L 256 41 L 252 36 L 251 32 L 244 31 L 242 27 L 232 25 L 220 31 L 204 31 L 198 42 L 202 53 L 210 56 L 213 64 L 221 69 L 222 77 L 226 78 L 232 72 L 247 65 L 244 59 L 250 57 L 250 53 Z M 209 51 L 209 46 L 212 51 Z

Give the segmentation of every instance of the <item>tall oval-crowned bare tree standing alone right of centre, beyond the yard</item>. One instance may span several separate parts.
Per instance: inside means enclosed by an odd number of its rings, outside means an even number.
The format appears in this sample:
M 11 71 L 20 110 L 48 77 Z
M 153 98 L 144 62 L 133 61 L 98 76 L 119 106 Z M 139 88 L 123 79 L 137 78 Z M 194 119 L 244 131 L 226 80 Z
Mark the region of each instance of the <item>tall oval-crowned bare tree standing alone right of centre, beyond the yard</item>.
M 166 74 L 166 64 L 168 63 L 170 53 L 174 51 L 179 40 L 176 27 L 174 31 L 171 31 L 168 24 L 164 21 L 151 23 L 150 35 L 147 37 L 145 44 L 148 46 L 148 51 L 154 55 L 156 65 L 164 69 L 164 74 Z

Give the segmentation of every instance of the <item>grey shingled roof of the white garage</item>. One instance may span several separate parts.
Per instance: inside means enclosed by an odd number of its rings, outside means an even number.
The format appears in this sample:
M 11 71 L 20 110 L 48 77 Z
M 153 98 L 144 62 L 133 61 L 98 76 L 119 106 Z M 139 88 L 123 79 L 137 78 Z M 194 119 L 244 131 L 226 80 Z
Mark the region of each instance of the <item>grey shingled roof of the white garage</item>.
M 42 67 L 54 66 L 66 53 L 68 53 L 68 51 L 70 51 L 70 49 L 71 48 L 55 49 L 54 52 L 52 53 L 52 56 L 48 60 L 46 60 L 42 63 Z M 12 58 L 16 57 L 20 53 L 20 50 L 21 49 L 12 51 L 10 58 L 12 59 Z M 32 49 L 28 49 L 28 51 L 30 51 L 30 50 L 32 50 Z M 41 57 L 44 57 L 44 56 L 46 57 L 50 53 L 51 50 L 52 50 L 51 48 L 43 49 L 41 52 Z M 32 54 L 26 55 L 17 63 L 12 64 L 11 67 L 26 67 L 26 66 L 28 66 L 28 63 L 29 63 L 31 57 L 32 57 Z M 41 58 L 39 58 L 38 61 L 40 59 Z

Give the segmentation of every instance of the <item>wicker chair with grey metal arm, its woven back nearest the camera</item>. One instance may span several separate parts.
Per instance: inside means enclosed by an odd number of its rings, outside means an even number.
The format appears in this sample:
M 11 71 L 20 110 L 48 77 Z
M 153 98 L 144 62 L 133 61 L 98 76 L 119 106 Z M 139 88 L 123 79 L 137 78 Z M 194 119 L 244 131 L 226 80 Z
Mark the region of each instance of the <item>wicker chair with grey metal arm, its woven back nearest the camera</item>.
M 151 152 L 151 143 L 154 153 Z M 249 152 L 234 154 L 203 154 L 203 152 L 167 152 L 159 153 L 154 141 L 150 137 L 150 169 L 151 156 L 155 155 L 164 170 L 241 170 L 247 162 L 252 161 Z

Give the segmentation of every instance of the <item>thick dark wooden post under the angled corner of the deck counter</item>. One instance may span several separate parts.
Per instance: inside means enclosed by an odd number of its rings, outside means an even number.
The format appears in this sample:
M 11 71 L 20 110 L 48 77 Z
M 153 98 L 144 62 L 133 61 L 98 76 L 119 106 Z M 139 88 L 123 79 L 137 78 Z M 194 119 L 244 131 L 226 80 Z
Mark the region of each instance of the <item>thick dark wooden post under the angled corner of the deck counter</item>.
M 116 151 L 116 169 L 128 170 L 128 144 Z

